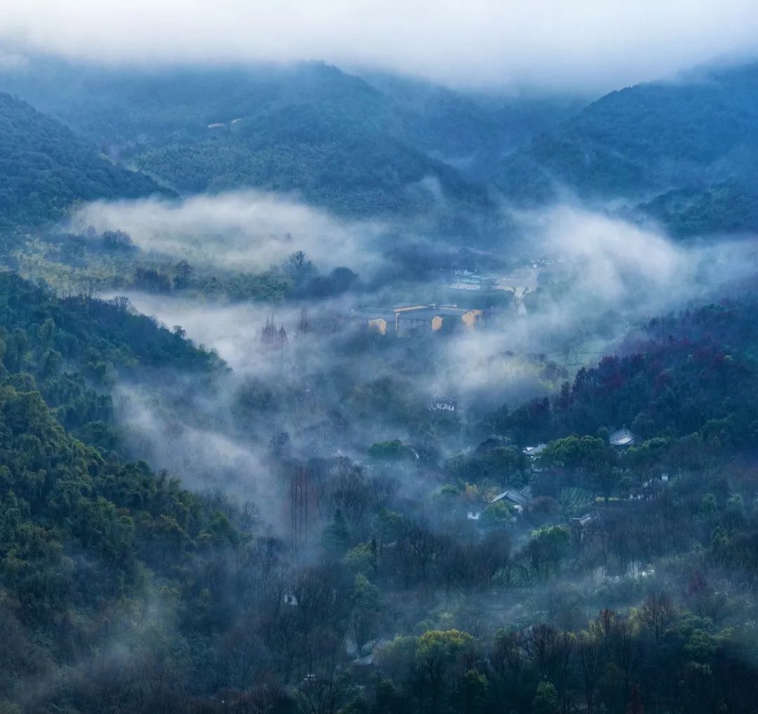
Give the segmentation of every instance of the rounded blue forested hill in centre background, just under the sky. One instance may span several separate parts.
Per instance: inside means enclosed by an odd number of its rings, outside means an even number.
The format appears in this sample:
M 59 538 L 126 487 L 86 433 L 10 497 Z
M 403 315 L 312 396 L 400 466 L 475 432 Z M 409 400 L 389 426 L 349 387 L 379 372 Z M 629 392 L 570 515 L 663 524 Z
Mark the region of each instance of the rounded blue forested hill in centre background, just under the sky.
M 223 126 L 153 145 L 136 165 L 183 191 L 255 186 L 340 214 L 426 211 L 440 196 L 487 208 L 484 189 L 409 141 L 381 92 L 332 67 L 296 75 L 297 89 L 286 76 L 274 96 L 246 98 L 215 117 Z

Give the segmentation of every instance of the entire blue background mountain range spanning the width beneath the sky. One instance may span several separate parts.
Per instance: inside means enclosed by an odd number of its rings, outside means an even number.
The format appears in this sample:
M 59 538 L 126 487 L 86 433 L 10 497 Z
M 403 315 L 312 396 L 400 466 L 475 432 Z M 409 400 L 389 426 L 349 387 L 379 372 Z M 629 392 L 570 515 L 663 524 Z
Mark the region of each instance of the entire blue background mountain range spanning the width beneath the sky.
M 675 235 L 755 229 L 756 85 L 754 65 L 710 71 L 580 111 L 579 98 L 466 95 L 321 63 L 106 70 L 37 59 L 0 73 L 0 89 L 179 192 L 250 186 L 343 215 L 436 215 L 459 232 L 475 214 L 492 223 L 488 187 L 517 206 L 564 192 L 622 201 Z

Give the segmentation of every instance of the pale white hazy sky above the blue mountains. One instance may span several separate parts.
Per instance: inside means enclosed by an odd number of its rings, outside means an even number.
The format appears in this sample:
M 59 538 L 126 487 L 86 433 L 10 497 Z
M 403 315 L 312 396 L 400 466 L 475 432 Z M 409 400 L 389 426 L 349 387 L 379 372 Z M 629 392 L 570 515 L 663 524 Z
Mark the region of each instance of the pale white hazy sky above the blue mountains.
M 323 59 L 612 89 L 758 50 L 756 0 L 5 0 L 0 35 L 109 61 Z

